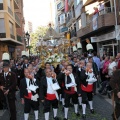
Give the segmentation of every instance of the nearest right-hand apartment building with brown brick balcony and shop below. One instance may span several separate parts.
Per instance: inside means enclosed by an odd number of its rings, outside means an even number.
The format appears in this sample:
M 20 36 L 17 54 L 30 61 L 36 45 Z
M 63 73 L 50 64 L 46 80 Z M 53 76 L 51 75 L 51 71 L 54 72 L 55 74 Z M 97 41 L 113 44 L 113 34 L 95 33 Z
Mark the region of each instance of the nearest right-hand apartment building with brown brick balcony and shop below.
M 103 52 L 115 56 L 119 51 L 120 1 L 86 0 L 82 4 L 82 13 L 77 21 L 77 37 L 82 40 L 83 51 L 86 51 L 85 39 L 89 38 L 94 50 L 101 56 Z M 94 7 L 98 10 L 101 7 L 101 10 L 95 13 Z

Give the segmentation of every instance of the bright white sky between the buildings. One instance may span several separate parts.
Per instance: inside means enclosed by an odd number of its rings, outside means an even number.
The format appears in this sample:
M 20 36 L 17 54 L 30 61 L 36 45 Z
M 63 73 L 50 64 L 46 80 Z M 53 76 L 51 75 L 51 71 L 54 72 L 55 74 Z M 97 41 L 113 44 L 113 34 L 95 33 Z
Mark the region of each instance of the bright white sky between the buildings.
M 54 22 L 54 0 L 23 0 L 25 20 L 33 23 L 33 30 L 38 26 L 46 26 L 51 21 L 50 1 L 52 2 L 52 13 Z

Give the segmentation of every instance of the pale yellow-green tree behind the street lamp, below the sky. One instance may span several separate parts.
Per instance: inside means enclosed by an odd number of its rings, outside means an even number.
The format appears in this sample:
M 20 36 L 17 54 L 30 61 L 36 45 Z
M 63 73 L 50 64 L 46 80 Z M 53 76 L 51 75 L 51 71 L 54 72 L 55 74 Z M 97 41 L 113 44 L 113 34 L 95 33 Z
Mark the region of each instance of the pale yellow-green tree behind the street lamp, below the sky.
M 37 28 L 37 30 L 34 33 L 31 33 L 31 35 L 30 35 L 30 39 L 31 39 L 30 46 L 32 46 L 31 47 L 31 53 L 32 54 L 36 54 L 36 43 L 39 40 L 39 36 L 44 36 L 46 34 L 47 30 L 48 30 L 47 26 L 40 26 L 40 27 Z

